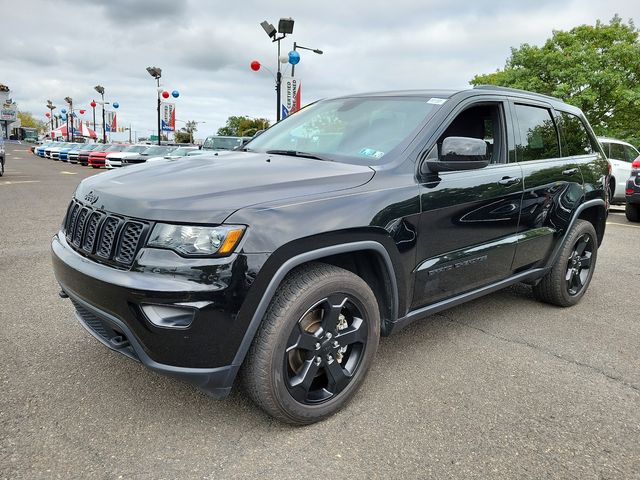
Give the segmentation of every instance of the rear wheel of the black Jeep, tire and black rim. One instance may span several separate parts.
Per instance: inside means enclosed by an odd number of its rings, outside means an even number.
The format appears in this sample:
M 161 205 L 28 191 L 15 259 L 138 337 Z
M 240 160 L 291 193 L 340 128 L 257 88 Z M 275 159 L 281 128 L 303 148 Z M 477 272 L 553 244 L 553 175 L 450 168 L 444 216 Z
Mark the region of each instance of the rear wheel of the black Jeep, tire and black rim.
M 538 300 L 559 307 L 580 301 L 587 291 L 598 257 L 598 238 L 593 225 L 577 220 L 567 234 L 553 268 L 533 287 Z

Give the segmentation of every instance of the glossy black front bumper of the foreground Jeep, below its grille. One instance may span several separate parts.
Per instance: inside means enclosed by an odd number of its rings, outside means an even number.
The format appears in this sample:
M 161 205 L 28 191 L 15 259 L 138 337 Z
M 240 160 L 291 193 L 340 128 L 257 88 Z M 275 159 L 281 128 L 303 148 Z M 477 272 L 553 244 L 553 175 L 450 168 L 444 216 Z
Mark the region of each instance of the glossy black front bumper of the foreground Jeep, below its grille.
M 258 255 L 184 259 L 168 250 L 142 249 L 130 270 L 102 265 L 76 252 L 63 234 L 53 237 L 53 267 L 76 316 L 112 350 L 160 373 L 179 377 L 216 397 L 231 389 L 244 330 L 237 312 L 254 278 Z M 186 328 L 154 323 L 149 305 L 190 309 Z

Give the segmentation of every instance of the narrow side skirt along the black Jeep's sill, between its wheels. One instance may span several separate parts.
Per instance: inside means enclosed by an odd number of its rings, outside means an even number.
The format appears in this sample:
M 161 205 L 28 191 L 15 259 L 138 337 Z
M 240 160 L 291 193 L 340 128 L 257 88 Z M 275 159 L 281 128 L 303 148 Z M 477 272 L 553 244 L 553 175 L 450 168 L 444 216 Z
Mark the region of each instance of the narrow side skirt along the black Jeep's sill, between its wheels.
M 484 287 L 477 288 L 475 290 L 471 290 L 467 293 L 462 293 L 460 295 L 456 295 L 455 297 L 448 298 L 446 300 L 441 300 L 437 303 L 433 303 L 431 305 L 427 305 L 426 307 L 419 308 L 417 310 L 413 310 L 409 312 L 402 318 L 397 319 L 395 322 L 391 324 L 391 328 L 389 333 L 395 333 L 410 323 L 413 323 L 416 320 L 420 320 L 429 315 L 433 315 L 434 313 L 438 313 L 442 310 L 446 310 L 451 307 L 455 307 L 456 305 L 460 305 L 462 303 L 468 302 L 470 300 L 475 300 L 476 298 L 480 298 L 488 293 L 493 293 L 498 290 L 502 290 L 505 287 L 514 285 L 516 283 L 527 282 L 539 279 L 544 276 L 545 273 L 549 271 L 549 267 L 547 268 L 534 268 L 531 270 L 527 270 L 525 272 L 518 273 L 509 278 L 505 278 L 504 280 L 500 280 L 499 282 L 492 283 L 491 285 L 486 285 Z

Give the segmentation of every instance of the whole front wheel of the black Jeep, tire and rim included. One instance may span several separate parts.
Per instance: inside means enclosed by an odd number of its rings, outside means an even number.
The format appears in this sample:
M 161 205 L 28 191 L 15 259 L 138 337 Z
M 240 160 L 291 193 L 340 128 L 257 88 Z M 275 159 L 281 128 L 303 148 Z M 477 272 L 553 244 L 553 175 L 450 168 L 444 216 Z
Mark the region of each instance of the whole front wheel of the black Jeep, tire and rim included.
M 278 288 L 243 365 L 245 389 L 269 415 L 298 425 L 340 410 L 363 382 L 380 338 L 362 278 L 320 263 Z

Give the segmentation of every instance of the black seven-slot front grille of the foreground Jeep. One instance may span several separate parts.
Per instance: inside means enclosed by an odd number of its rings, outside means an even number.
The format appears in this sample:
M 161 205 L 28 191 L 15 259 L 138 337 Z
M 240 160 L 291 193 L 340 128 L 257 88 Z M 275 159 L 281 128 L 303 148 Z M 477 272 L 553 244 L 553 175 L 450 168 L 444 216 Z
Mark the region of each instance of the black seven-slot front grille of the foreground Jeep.
M 133 263 L 148 231 L 147 222 L 93 210 L 75 200 L 64 224 L 67 242 L 76 251 L 114 266 Z

